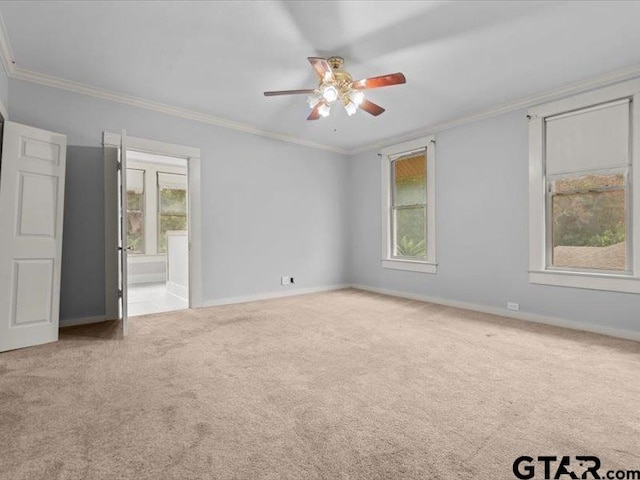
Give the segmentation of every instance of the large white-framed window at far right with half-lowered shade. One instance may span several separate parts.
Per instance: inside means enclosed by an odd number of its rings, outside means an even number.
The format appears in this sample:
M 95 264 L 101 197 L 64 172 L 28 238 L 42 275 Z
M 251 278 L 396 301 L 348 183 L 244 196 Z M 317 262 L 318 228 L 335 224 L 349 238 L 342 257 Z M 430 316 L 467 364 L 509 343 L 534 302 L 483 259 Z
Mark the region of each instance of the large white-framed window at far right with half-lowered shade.
M 626 82 L 531 109 L 531 282 L 640 293 L 637 92 Z

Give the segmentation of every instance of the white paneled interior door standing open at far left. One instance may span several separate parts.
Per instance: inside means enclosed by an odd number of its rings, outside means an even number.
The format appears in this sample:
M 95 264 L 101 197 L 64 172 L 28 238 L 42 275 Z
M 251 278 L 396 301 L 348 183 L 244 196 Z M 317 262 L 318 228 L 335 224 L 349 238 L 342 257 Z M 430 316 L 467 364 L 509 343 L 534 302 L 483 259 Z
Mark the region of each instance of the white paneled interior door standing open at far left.
M 0 351 L 58 340 L 65 135 L 6 122 L 0 170 Z

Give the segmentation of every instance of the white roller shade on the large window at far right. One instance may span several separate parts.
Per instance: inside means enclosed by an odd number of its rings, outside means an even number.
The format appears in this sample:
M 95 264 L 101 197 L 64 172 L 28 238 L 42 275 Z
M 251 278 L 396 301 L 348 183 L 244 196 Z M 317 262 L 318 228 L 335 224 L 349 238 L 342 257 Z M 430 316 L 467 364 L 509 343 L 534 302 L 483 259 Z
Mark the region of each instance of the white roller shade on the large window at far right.
M 629 165 L 629 100 L 546 118 L 548 175 Z

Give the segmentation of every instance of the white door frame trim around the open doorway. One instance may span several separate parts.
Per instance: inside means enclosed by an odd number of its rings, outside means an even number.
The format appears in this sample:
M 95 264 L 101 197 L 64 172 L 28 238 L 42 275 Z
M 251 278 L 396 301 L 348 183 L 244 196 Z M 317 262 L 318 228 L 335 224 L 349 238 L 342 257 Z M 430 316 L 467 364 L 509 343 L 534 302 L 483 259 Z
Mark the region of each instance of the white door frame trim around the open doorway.
M 119 133 L 104 132 L 102 144 L 105 147 L 120 148 L 121 135 Z M 201 188 L 200 188 L 200 149 L 172 143 L 160 142 L 146 138 L 127 135 L 127 148 L 144 153 L 179 157 L 187 160 L 188 172 L 188 232 L 189 232 L 189 308 L 202 305 L 202 217 L 201 217 Z M 113 207 L 111 207 L 113 208 Z M 106 225 L 106 258 L 113 259 L 116 250 L 112 249 L 112 237 L 115 234 Z M 116 235 L 117 236 L 117 235 Z M 117 273 L 117 272 L 116 272 Z M 117 305 L 117 289 L 113 288 L 113 279 L 107 279 L 105 292 L 106 310 L 112 313 L 113 305 Z M 117 309 L 115 310 L 117 312 Z

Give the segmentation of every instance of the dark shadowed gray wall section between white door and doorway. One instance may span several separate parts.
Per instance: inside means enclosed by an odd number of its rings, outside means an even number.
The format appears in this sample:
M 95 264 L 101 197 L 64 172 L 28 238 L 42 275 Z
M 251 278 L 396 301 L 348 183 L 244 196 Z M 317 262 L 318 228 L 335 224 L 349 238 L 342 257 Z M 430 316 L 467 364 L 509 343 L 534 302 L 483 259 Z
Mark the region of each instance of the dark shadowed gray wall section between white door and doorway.
M 67 148 L 60 318 L 104 315 L 104 163 L 102 148 Z

